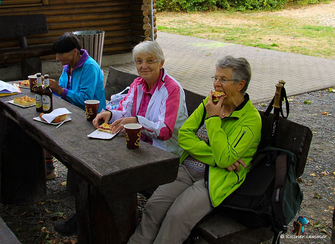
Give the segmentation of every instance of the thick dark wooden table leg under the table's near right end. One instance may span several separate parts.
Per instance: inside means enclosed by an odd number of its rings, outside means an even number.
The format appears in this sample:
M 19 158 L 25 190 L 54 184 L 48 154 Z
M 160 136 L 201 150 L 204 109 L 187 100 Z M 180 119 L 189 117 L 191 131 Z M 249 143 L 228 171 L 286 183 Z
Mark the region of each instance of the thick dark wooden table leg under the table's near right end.
M 111 199 L 84 181 L 77 184 L 78 243 L 126 244 L 137 226 L 137 193 Z

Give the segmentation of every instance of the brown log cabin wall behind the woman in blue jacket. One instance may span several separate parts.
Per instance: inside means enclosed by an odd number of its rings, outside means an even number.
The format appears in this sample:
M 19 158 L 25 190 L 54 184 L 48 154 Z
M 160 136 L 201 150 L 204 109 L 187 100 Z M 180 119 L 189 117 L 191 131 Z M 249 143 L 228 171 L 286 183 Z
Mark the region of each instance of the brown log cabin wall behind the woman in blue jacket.
M 0 15 L 29 14 L 45 14 L 49 32 L 27 36 L 28 46 L 53 43 L 68 31 L 104 30 L 103 54 L 107 55 L 130 52 L 140 41 L 150 39 L 148 0 L 1 0 Z M 156 16 L 156 38 L 155 26 Z M 18 38 L 0 37 L 0 50 L 19 47 Z M 54 58 L 55 55 L 41 57 Z M 19 62 L 17 57 L 7 60 L 7 63 Z

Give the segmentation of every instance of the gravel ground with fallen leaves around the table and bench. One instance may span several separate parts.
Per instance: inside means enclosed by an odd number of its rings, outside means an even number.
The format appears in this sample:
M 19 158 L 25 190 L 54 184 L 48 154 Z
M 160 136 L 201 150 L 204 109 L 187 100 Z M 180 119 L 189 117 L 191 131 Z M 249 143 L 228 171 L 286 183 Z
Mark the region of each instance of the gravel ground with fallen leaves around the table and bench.
M 309 223 L 305 232 L 324 236 L 323 239 L 291 239 L 284 237 L 282 244 L 330 243 L 332 213 L 335 202 L 335 93 L 327 90 L 289 97 L 289 119 L 308 126 L 313 132 L 304 174 L 299 179 L 304 192 L 304 201 L 299 215 Z M 305 104 L 309 101 L 310 104 Z M 304 103 L 305 102 L 305 103 Z M 268 103 L 263 104 L 266 106 Z M 255 105 L 264 110 L 262 104 Z M 67 169 L 56 162 L 58 177 L 47 182 L 48 195 L 44 201 L 29 205 L 15 206 L 0 204 L 0 216 L 23 244 L 75 244 L 76 236 L 65 238 L 55 233 L 53 224 L 74 212 L 74 197 L 70 196 L 63 184 Z M 139 219 L 145 204 L 145 197 L 138 195 Z M 293 223 L 290 223 L 291 234 Z

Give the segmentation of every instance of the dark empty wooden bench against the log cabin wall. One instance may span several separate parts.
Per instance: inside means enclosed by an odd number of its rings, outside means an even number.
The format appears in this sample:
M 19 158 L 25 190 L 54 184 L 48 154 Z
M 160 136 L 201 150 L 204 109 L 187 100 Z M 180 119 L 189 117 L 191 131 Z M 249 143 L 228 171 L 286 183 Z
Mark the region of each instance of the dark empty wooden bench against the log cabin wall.
M 0 38 L 19 38 L 20 48 L 1 48 L 0 66 L 21 62 L 21 78 L 42 72 L 40 56 L 55 54 L 52 44 L 28 46 L 26 36 L 48 33 L 44 14 L 0 16 Z

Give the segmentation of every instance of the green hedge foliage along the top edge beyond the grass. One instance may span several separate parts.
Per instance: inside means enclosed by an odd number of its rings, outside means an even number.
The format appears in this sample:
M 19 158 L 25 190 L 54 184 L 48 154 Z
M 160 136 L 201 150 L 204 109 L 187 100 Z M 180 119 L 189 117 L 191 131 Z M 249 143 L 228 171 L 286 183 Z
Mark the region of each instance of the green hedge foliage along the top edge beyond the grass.
M 234 11 L 276 10 L 290 5 L 316 4 L 328 0 L 157 0 L 158 11 L 212 11 L 226 9 Z

